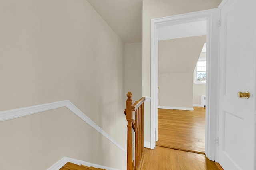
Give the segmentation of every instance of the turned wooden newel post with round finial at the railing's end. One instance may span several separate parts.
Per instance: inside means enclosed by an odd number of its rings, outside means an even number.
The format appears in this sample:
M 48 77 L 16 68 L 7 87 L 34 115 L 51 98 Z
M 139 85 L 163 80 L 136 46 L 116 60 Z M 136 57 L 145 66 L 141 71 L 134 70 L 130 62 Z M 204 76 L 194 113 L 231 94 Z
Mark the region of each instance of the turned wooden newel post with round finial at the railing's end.
M 132 92 L 127 93 L 126 120 L 127 120 L 127 170 L 132 170 Z

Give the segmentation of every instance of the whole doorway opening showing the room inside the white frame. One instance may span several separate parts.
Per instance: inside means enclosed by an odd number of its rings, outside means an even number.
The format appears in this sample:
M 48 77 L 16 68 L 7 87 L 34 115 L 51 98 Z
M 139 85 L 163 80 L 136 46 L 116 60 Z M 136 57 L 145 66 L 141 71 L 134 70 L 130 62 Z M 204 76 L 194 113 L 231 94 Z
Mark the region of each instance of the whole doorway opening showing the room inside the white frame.
M 206 20 L 167 28 L 158 29 L 156 146 L 204 154 Z

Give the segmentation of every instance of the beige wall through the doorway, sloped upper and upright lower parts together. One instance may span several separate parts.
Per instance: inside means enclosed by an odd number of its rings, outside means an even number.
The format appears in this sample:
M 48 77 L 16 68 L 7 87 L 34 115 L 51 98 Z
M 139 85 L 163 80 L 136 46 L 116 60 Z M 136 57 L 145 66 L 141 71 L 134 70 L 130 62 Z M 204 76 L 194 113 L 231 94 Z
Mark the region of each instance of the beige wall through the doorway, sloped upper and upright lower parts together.
M 193 108 L 193 72 L 206 36 L 158 41 L 158 106 Z

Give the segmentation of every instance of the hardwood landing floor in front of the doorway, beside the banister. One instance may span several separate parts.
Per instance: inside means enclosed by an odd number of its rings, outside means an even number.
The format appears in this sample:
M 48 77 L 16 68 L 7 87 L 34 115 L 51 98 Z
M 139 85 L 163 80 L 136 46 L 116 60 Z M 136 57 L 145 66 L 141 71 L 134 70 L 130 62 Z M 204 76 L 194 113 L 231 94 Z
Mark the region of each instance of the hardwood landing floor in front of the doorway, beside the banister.
M 156 146 L 145 148 L 141 170 L 219 170 L 203 154 Z

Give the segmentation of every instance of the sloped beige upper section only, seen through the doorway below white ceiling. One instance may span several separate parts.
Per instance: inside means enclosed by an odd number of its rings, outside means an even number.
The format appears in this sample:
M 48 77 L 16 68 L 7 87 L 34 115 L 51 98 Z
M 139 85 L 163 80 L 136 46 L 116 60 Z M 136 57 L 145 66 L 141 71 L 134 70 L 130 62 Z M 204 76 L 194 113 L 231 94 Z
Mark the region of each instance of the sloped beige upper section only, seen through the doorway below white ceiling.
M 193 73 L 206 35 L 158 42 L 158 73 Z

